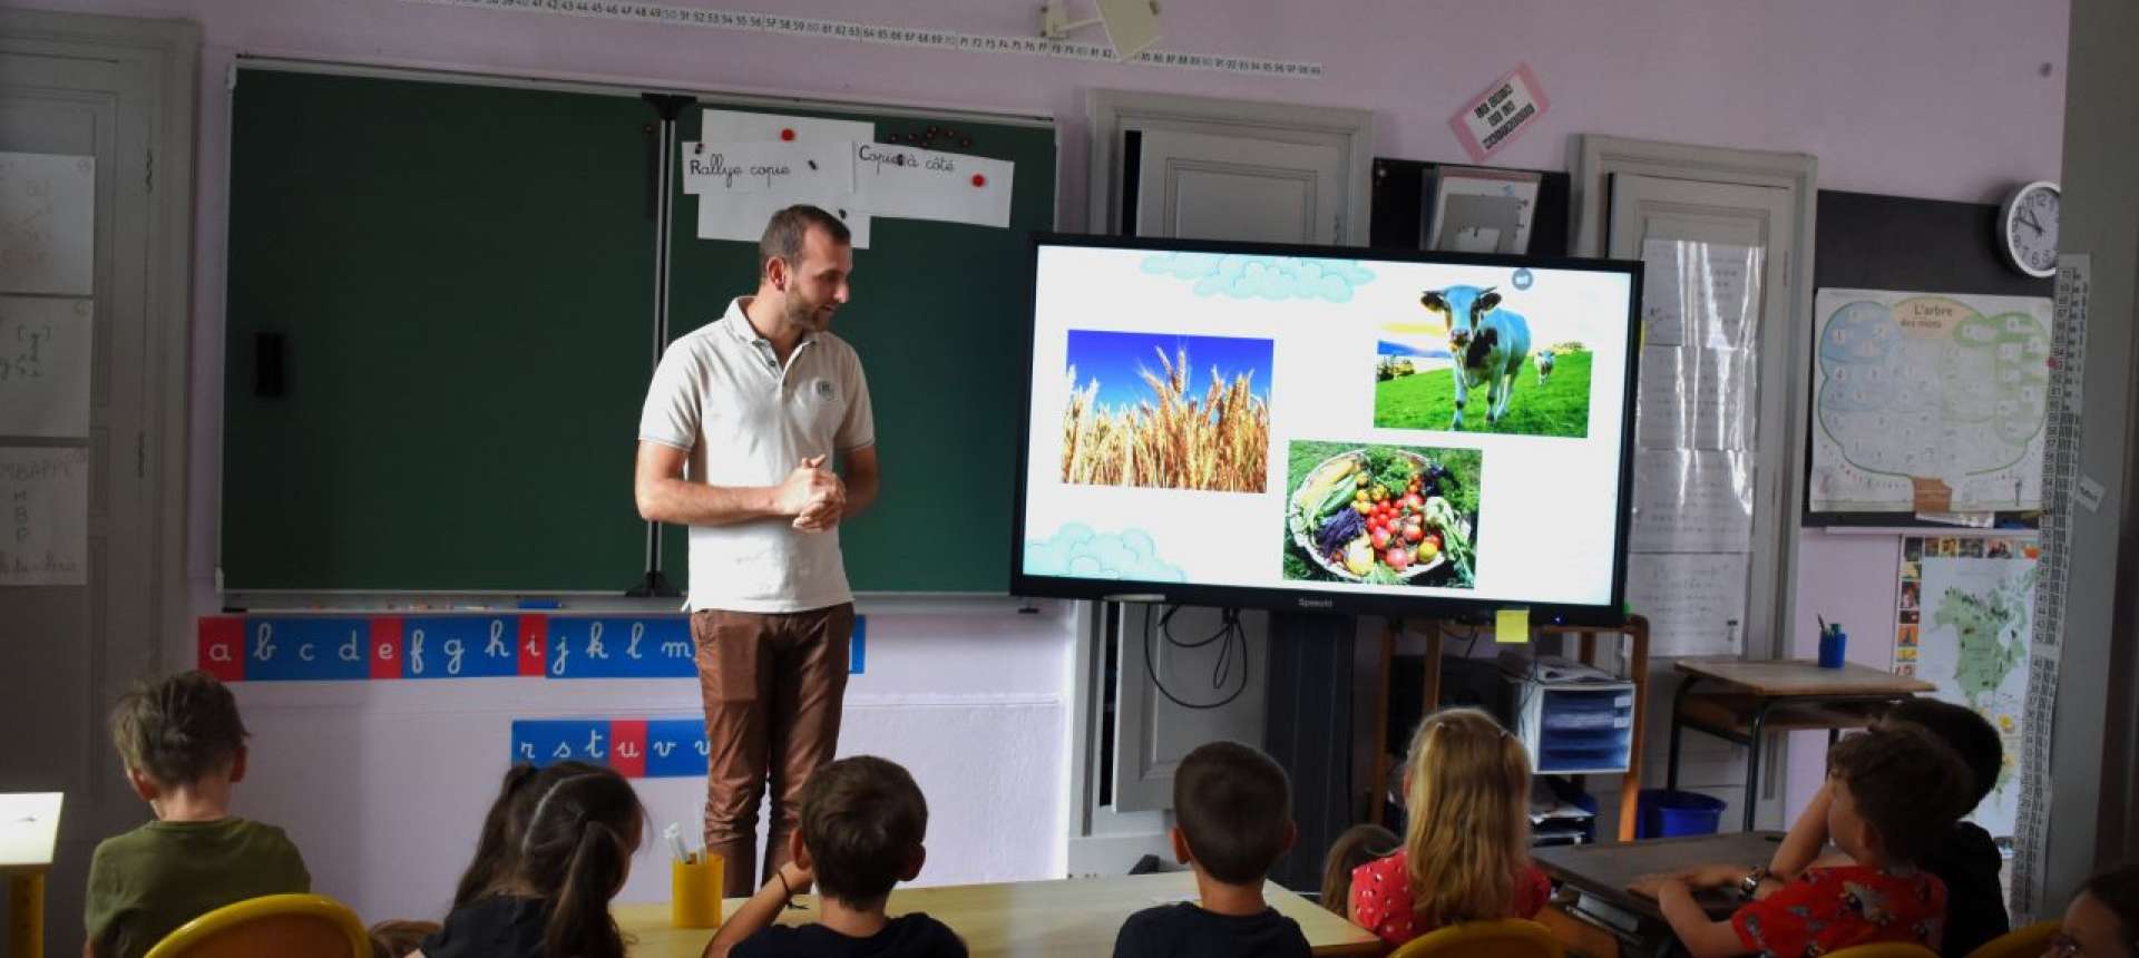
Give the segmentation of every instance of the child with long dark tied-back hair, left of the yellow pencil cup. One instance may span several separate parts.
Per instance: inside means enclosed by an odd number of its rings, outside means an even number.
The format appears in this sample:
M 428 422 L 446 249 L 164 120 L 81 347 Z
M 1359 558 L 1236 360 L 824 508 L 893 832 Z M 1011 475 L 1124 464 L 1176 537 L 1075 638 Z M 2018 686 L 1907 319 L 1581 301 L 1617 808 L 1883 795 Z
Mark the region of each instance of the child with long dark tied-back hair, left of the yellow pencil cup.
M 520 808 L 526 808 L 522 815 Z M 582 763 L 507 772 L 445 926 L 419 958 L 622 958 L 610 898 L 631 875 L 646 808 L 625 776 Z

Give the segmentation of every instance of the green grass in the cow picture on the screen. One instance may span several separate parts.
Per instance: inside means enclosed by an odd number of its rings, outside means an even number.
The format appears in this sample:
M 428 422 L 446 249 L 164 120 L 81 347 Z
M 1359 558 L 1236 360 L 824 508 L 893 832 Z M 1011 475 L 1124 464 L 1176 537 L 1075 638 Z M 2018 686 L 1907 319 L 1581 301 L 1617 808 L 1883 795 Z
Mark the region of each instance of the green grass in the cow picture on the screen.
M 1373 423 L 1384 430 L 1446 430 L 1455 411 L 1455 370 L 1420 372 L 1373 385 Z M 1544 387 L 1538 387 L 1538 366 L 1525 361 L 1523 374 L 1514 376 L 1508 417 L 1487 426 L 1484 413 L 1484 389 L 1472 389 L 1469 402 L 1463 406 L 1463 432 L 1587 436 L 1589 353 L 1553 357 L 1553 376 L 1544 381 Z

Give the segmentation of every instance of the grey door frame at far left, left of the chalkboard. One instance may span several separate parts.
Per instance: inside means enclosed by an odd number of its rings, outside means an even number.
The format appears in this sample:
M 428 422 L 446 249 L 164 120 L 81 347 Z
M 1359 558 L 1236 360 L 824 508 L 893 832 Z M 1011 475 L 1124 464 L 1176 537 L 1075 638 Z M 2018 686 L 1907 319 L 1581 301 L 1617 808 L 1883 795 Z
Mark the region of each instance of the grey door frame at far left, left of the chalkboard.
M 186 586 L 186 492 L 193 415 L 193 190 L 195 126 L 199 120 L 201 26 L 188 19 L 105 17 L 92 13 L 0 11 L 0 53 L 94 56 L 139 64 L 158 77 L 152 105 L 150 192 L 148 192 L 148 325 L 143 400 L 160 406 L 133 436 L 135 468 L 152 481 L 154 528 L 150 535 L 150 594 L 113 597 L 103 603 L 141 601 L 150 605 L 158 635 L 148 639 L 150 667 L 167 669 L 165 650 L 190 635 L 193 597 Z M 126 455 L 113 436 L 111 453 Z M 92 584 L 94 588 L 94 584 Z

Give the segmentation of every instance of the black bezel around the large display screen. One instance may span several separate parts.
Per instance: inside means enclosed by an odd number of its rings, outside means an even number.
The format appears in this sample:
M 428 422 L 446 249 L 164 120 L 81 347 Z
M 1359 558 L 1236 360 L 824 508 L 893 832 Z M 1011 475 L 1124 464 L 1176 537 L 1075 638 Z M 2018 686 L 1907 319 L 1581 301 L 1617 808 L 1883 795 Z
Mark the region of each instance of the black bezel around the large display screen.
M 1403 597 L 1382 592 L 1328 592 L 1296 590 L 1281 586 L 1215 586 L 1196 582 L 1132 582 L 1132 580 L 1080 580 L 1067 575 L 1025 573 L 1025 509 L 1027 479 L 1031 475 L 1033 441 L 1033 338 L 1037 334 L 1040 310 L 1040 252 L 1046 248 L 1104 248 L 1104 250 L 1151 250 L 1151 252 L 1217 252 L 1249 257 L 1303 257 L 1303 259 L 1350 259 L 1388 263 L 1429 265 L 1487 265 L 1487 267 L 1532 267 L 1568 269 L 1594 274 L 1621 274 L 1628 278 L 1626 304 L 1626 387 L 1619 398 L 1624 428 L 1619 432 L 1619 515 L 1613 535 L 1613 573 L 1609 603 L 1523 603 L 1519 599 L 1459 599 L 1459 597 Z M 1256 244 L 1230 240 L 1155 240 L 1121 235 L 1082 233 L 1033 233 L 1031 235 L 1031 287 L 1033 314 L 1025 323 L 1025 398 L 1018 417 L 1018 475 L 1016 507 L 1010 528 L 1010 594 L 1033 599 L 1097 599 L 1097 601 L 1149 601 L 1172 605 L 1211 607 L 1253 607 L 1271 612 L 1337 612 L 1378 616 L 1431 616 L 1444 620 L 1489 618 L 1497 609 L 1527 607 L 1534 622 L 1551 624 L 1621 624 L 1626 620 L 1626 554 L 1632 526 L 1632 479 L 1634 479 L 1634 396 L 1641 383 L 1641 261 L 1626 259 L 1570 259 L 1570 257 L 1508 257 L 1476 252 L 1427 252 L 1427 250 L 1378 250 L 1363 246 L 1305 246 L 1305 244 Z

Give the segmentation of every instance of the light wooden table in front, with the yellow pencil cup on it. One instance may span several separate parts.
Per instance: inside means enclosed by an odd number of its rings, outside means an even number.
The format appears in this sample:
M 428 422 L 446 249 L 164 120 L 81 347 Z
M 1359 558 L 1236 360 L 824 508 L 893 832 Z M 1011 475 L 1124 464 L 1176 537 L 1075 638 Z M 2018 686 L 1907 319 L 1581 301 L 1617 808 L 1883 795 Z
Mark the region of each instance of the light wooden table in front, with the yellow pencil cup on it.
M 1307 932 L 1320 956 L 1378 956 L 1382 941 L 1315 902 L 1277 885 L 1264 885 L 1271 905 Z M 1104 956 L 1114 952 L 1114 934 L 1132 913 L 1196 896 L 1189 872 L 1125 875 L 1112 879 L 1010 881 L 995 885 L 898 887 L 888 911 L 926 911 L 952 926 L 973 958 L 984 956 Z M 781 924 L 817 920 L 817 896 L 796 896 Z M 723 915 L 734 915 L 742 898 L 729 898 Z M 635 956 L 695 958 L 712 939 L 710 928 L 670 928 L 670 907 L 616 905 L 616 924 L 635 934 Z

